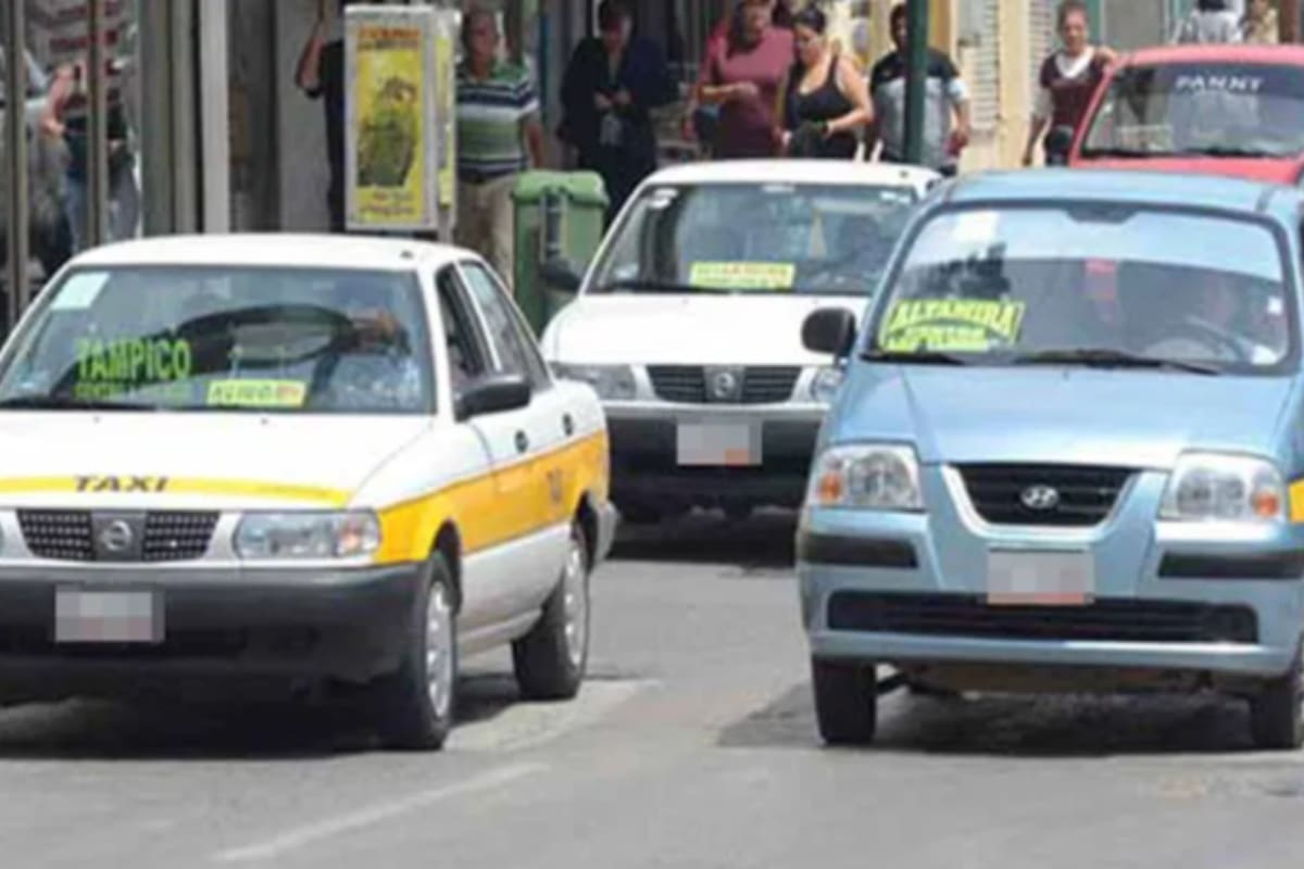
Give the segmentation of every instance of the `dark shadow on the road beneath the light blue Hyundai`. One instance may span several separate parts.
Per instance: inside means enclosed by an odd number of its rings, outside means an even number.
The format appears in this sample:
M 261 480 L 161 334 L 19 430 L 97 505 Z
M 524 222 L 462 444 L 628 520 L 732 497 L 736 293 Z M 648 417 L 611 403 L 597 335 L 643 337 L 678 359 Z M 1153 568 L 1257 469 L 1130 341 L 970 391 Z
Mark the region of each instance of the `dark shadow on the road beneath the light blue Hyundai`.
M 822 747 L 808 684 L 720 732 L 721 748 Z M 866 752 L 974 757 L 1219 754 L 1251 748 L 1243 702 L 1218 696 L 969 696 L 935 700 L 897 691 L 879 698 Z

